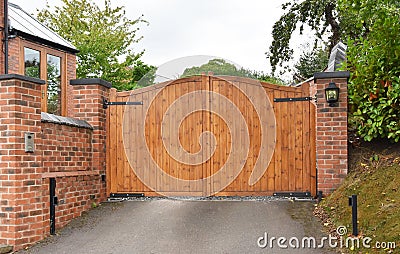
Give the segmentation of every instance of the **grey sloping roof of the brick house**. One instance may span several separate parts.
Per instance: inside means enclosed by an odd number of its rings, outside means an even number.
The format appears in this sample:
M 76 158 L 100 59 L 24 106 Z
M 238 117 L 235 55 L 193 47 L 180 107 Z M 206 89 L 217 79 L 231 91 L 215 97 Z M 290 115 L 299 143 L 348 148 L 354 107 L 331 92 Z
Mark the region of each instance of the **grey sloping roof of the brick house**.
M 72 53 L 78 52 L 69 41 L 50 30 L 18 5 L 8 3 L 8 17 L 12 33 Z

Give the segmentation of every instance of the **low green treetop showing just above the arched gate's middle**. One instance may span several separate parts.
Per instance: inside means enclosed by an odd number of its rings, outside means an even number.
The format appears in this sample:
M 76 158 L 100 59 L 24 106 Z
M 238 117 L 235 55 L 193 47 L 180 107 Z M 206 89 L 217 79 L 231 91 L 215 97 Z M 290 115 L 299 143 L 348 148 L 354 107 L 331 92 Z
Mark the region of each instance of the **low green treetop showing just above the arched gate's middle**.
M 208 74 L 209 72 L 212 72 L 213 75 L 239 76 L 258 79 L 273 84 L 284 85 L 284 82 L 279 78 L 269 76 L 263 72 L 251 71 L 243 68 L 238 69 L 235 65 L 228 63 L 223 59 L 212 59 L 208 63 L 203 64 L 199 67 L 194 66 L 191 68 L 187 68 L 184 70 L 181 77 L 201 75 L 202 73 Z

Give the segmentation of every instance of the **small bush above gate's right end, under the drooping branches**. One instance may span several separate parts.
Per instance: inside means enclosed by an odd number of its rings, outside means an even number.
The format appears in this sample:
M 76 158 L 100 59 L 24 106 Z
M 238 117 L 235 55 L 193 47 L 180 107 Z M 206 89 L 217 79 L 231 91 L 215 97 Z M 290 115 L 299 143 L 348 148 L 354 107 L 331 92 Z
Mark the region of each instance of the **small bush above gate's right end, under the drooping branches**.
M 329 54 L 321 48 L 309 52 L 303 52 L 299 61 L 295 64 L 293 80 L 298 83 L 323 71 L 328 66 Z

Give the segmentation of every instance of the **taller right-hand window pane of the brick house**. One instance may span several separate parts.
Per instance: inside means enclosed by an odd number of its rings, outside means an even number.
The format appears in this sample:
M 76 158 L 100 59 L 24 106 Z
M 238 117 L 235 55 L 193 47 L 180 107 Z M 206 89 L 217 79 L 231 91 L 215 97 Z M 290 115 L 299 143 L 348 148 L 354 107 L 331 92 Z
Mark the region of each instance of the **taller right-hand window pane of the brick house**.
M 61 115 L 61 58 L 47 55 L 47 113 Z

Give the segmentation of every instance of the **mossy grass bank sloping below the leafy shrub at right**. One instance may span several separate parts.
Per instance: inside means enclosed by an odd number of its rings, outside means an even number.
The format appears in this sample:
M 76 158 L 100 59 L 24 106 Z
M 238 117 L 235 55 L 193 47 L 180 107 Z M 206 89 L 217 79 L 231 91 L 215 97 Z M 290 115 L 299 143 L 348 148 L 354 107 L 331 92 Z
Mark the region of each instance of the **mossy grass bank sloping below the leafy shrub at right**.
M 371 148 L 372 147 L 372 148 Z M 353 152 L 351 173 L 340 188 L 324 199 L 319 207 L 333 227 L 346 226 L 351 233 L 351 207 L 348 197 L 358 195 L 358 222 L 361 237 L 379 242 L 395 242 L 395 249 L 343 250 L 349 253 L 400 253 L 400 149 L 379 150 L 371 146 Z M 372 150 L 371 150 L 372 149 Z M 389 152 L 388 152 L 389 150 Z M 332 225 L 331 225 L 332 226 Z

